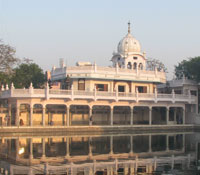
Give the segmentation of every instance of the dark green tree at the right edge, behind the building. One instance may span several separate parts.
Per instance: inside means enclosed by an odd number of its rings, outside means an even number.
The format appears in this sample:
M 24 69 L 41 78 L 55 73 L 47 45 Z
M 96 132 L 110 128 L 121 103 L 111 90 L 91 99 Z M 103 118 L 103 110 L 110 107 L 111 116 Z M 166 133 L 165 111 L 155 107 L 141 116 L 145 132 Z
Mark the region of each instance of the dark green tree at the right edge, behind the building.
M 175 66 L 175 76 L 181 79 L 185 76 L 188 79 L 200 82 L 200 56 L 183 60 Z

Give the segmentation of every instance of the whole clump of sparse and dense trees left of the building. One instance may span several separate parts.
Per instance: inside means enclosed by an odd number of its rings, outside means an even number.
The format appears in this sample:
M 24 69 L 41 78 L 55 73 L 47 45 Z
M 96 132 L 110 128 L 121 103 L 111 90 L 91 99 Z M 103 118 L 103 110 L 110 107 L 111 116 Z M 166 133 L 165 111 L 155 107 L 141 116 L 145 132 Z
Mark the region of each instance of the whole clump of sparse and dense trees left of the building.
M 16 58 L 15 49 L 0 40 L 0 86 L 11 82 L 16 88 L 28 88 L 31 82 L 34 88 L 41 88 L 45 82 L 45 75 L 32 60 Z

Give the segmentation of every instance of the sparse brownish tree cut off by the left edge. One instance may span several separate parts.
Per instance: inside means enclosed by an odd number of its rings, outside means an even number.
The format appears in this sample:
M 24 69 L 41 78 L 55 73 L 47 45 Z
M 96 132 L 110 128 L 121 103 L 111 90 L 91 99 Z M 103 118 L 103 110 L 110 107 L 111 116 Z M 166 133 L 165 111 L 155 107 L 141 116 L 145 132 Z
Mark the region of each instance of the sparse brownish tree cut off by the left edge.
M 15 56 L 15 49 L 0 40 L 0 72 L 12 73 L 13 67 L 19 62 Z

